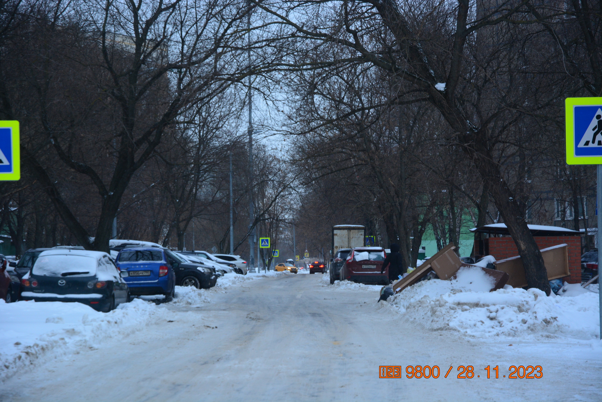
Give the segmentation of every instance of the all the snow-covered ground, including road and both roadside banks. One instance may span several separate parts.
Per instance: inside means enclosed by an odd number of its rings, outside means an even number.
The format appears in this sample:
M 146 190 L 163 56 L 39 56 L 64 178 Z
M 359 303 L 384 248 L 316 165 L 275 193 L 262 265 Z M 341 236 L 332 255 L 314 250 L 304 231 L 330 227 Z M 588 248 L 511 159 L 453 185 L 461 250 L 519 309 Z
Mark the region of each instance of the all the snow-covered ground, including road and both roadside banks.
M 110 313 L 0 301 L 0 400 L 602 400 L 597 285 L 489 280 L 463 268 L 380 303 L 382 286 L 290 272 Z

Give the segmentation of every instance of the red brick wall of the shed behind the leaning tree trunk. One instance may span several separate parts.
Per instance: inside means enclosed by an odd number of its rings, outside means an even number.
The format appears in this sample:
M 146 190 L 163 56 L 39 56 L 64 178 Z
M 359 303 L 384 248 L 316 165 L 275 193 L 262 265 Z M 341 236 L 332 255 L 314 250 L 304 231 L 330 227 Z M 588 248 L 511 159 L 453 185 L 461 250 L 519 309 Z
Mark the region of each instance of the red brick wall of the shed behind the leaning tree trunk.
M 568 269 L 570 275 L 560 278 L 568 283 L 581 283 L 581 236 L 535 236 L 533 237 L 539 249 L 548 248 L 562 243 L 568 244 Z M 517 246 L 512 237 L 489 237 L 489 255 L 496 260 L 518 256 Z

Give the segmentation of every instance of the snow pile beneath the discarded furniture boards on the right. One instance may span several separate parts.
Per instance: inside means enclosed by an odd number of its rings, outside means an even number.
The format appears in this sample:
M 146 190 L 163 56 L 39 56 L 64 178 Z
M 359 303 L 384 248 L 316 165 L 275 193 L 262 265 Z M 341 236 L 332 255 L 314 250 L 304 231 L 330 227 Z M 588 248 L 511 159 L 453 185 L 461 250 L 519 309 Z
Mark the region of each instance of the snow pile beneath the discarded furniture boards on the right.
M 465 281 L 436 279 L 404 289 L 389 303 L 430 330 L 456 330 L 474 337 L 597 339 L 600 332 L 598 295 L 589 291 L 547 297 L 538 289 L 471 291 Z

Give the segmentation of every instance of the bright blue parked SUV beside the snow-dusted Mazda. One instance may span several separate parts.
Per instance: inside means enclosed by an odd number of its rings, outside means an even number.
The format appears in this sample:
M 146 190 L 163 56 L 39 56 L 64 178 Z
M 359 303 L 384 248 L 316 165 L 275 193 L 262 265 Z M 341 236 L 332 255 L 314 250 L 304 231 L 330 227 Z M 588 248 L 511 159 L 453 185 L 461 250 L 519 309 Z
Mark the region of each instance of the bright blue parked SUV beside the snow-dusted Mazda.
M 119 251 L 117 267 L 128 272 L 125 281 L 132 295 L 165 295 L 167 301 L 173 299 L 175 268 L 164 253 L 163 248 L 150 247 L 126 247 Z

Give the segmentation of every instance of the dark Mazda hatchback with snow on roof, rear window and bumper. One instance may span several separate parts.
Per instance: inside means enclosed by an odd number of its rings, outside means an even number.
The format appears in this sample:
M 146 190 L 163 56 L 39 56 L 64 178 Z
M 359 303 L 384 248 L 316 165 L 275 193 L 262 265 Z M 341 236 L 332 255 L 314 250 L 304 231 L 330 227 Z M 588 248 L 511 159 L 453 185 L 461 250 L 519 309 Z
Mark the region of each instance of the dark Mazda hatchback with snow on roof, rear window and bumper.
M 129 301 L 129 289 L 107 253 L 87 250 L 46 250 L 21 279 L 21 298 L 87 304 L 110 312 Z

